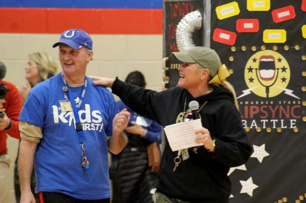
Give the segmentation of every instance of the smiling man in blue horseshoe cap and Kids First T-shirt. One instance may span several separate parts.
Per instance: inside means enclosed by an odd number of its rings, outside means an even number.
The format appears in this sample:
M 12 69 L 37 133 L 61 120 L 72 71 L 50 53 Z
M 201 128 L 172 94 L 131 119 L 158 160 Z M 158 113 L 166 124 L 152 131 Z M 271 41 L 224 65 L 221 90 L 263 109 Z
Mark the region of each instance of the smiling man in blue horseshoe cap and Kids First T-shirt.
M 30 189 L 33 160 L 40 202 L 110 202 L 107 149 L 126 145 L 130 114 L 118 113 L 112 94 L 85 76 L 92 40 L 80 29 L 62 33 L 63 71 L 31 90 L 20 113 L 21 202 L 35 202 Z

